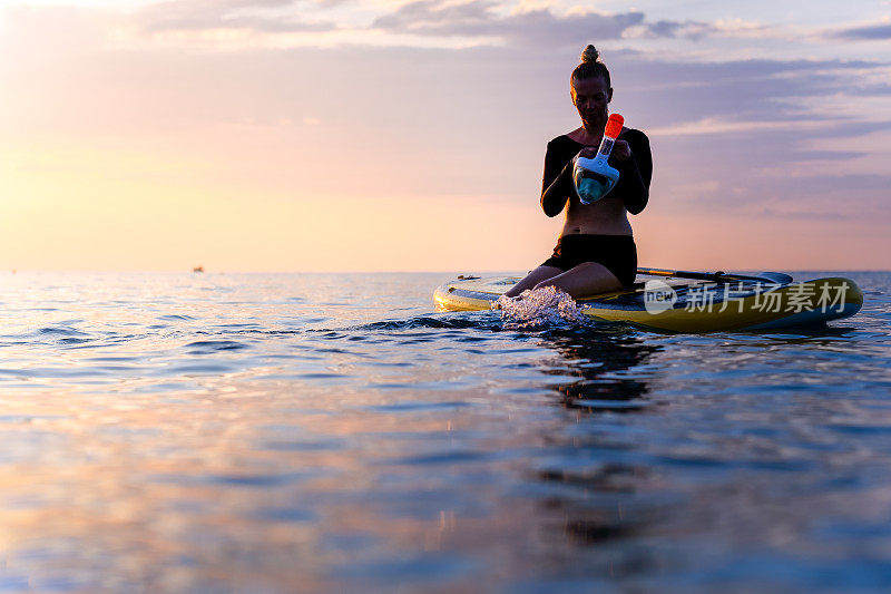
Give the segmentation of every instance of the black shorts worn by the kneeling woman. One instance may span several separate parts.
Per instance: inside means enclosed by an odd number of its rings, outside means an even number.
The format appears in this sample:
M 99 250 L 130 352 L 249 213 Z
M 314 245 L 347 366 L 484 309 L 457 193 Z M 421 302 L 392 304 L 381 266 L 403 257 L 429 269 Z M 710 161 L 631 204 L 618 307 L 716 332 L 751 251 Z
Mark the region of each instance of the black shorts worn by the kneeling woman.
M 541 265 L 566 272 L 585 262 L 597 262 L 616 275 L 625 286 L 637 274 L 637 246 L 630 235 L 564 235 L 557 240 L 554 255 Z

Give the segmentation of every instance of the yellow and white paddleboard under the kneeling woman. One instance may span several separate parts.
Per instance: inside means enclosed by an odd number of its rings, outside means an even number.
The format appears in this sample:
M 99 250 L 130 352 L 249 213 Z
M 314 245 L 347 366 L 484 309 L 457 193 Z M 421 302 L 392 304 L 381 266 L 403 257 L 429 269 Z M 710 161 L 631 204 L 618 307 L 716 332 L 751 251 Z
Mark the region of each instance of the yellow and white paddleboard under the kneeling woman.
M 658 269 L 652 269 L 658 270 Z M 707 276 L 707 273 L 702 273 Z M 433 292 L 440 311 L 480 311 L 519 282 L 519 276 L 459 276 Z M 577 299 L 595 320 L 623 322 L 655 331 L 757 331 L 820 325 L 850 318 L 863 293 L 850 279 L 796 282 L 777 272 L 714 280 L 637 275 L 628 290 Z

